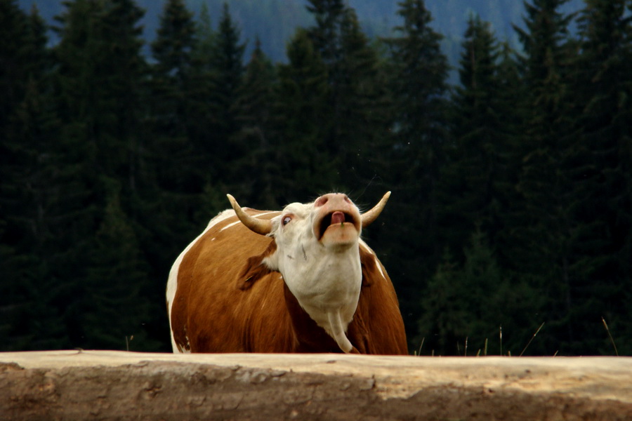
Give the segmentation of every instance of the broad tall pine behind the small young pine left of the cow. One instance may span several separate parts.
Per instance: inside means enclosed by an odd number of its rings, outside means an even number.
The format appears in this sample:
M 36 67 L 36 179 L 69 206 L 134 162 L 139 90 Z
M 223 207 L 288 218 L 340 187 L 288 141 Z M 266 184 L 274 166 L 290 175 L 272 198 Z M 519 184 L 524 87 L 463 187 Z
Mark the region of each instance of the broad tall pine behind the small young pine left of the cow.
M 143 173 L 147 135 L 139 123 L 145 115 L 138 26 L 143 13 L 127 0 L 65 6 L 54 51 L 63 171 L 56 210 L 62 218 L 54 228 L 65 232 L 56 247 L 53 279 L 60 283 L 55 307 L 62 309 L 67 341 L 77 344 L 84 341 L 81 314 L 93 293 L 83 282 L 90 270 L 86 262 L 98 246 L 94 233 L 105 218 L 108 186 L 121 186 L 121 206 L 140 220 L 139 189 L 150 176 Z

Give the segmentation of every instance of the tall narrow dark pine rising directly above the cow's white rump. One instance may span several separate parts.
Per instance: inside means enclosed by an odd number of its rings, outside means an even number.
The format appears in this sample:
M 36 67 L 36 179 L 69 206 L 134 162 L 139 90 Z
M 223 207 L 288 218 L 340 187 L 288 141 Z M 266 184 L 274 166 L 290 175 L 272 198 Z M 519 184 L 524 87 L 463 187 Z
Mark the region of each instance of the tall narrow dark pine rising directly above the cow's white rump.
M 195 114 L 196 98 L 190 96 L 189 90 L 192 82 L 197 81 L 193 70 L 196 46 L 195 22 L 185 2 L 167 1 L 151 44 L 155 62 L 150 80 L 149 148 L 156 185 L 154 201 L 148 206 L 157 217 L 152 220 L 153 226 L 158 220 L 168 221 L 168 227 L 154 233 L 163 246 L 173 244 L 169 247 L 171 253 L 177 253 L 176 244 L 183 241 L 181 237 L 195 232 L 190 215 L 202 189 L 199 168 L 202 163 L 190 133 L 190 114 Z M 154 251 L 157 253 L 154 258 L 159 259 L 166 250 Z

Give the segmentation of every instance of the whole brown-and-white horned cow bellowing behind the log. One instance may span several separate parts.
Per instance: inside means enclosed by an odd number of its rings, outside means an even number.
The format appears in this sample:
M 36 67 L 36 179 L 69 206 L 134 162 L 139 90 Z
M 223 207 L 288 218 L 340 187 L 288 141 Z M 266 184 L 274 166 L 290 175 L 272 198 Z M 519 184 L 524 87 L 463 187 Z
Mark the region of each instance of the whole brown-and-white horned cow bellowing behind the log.
M 360 239 L 389 196 L 366 213 L 341 193 L 279 212 L 228 194 L 169 273 L 173 352 L 407 354 L 393 283 Z

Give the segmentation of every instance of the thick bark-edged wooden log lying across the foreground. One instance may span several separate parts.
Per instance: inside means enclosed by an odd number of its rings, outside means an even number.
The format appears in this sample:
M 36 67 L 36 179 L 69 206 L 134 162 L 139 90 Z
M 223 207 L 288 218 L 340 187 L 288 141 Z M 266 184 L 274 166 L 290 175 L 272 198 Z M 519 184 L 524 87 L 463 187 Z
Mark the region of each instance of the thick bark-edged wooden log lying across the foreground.
M 0 420 L 632 420 L 632 359 L 7 352 Z

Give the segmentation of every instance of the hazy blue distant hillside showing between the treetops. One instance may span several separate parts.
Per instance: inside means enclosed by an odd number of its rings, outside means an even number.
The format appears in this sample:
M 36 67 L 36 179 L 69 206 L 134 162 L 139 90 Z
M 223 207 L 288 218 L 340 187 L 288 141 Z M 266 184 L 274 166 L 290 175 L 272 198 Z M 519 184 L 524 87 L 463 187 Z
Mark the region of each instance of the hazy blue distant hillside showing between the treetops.
M 222 4 L 227 0 L 187 0 L 190 10 L 199 12 L 202 3 L 206 2 L 214 23 L 218 21 Z M 258 36 L 263 44 L 263 51 L 273 61 L 285 60 L 285 45 L 294 34 L 296 27 L 313 24 L 310 13 L 305 9 L 305 0 L 228 0 L 232 18 L 242 28 L 242 37 L 249 46 L 254 44 Z M 398 0 L 348 0 L 362 22 L 364 31 L 369 36 L 388 36 L 393 27 L 400 23 L 397 17 Z M 60 0 L 19 0 L 25 10 L 37 4 L 41 15 L 49 22 L 53 16 L 62 13 Z M 145 9 L 143 19 L 145 38 L 151 41 L 159 25 L 164 0 L 137 0 L 138 6 Z M 584 2 L 571 0 L 565 4 L 563 11 L 569 13 L 579 11 Z M 433 27 L 445 35 L 444 53 L 452 65 L 459 58 L 460 44 L 470 13 L 478 13 L 483 20 L 492 24 L 499 39 L 507 39 L 514 48 L 520 48 L 512 23 L 522 25 L 524 5 L 520 0 L 427 0 L 426 6 L 433 15 Z

